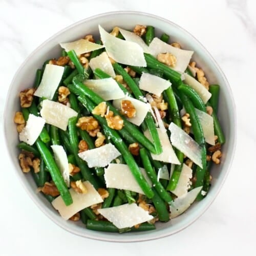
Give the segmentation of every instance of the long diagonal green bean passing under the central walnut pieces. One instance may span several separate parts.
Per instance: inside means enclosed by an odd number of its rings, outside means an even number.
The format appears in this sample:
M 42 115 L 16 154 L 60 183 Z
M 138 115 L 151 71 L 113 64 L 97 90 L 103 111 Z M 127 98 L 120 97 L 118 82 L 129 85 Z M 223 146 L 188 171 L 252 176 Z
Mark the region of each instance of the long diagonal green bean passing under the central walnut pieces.
M 89 98 L 78 96 L 78 100 L 81 101 L 81 103 L 88 110 L 90 110 L 92 112 L 94 106 L 93 106 L 92 101 Z M 132 154 L 128 150 L 127 146 L 125 145 L 125 143 L 123 142 L 123 140 L 121 139 L 119 134 L 115 130 L 111 129 L 106 124 L 106 120 L 103 117 L 101 117 L 99 115 L 94 115 L 94 118 L 97 119 L 100 122 L 100 124 L 102 125 L 105 135 L 111 137 L 111 139 L 112 139 L 113 143 L 115 144 L 117 150 L 121 153 L 124 161 L 129 166 L 134 178 L 138 182 L 141 189 L 144 191 L 145 195 L 148 198 L 152 198 L 154 193 L 153 193 L 150 185 L 148 185 L 145 178 L 141 174 L 139 166 L 137 165 L 137 163 L 134 160 Z

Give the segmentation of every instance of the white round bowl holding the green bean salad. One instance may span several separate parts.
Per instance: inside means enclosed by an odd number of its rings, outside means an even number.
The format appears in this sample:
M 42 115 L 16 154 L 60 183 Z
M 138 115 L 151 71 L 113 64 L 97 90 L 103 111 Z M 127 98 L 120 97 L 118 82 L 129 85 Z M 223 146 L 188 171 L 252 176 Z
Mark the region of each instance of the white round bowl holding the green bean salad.
M 133 29 L 136 24 L 154 26 L 157 36 L 165 32 L 171 35 L 172 41 L 180 42 L 182 48 L 194 50 L 193 60 L 195 60 L 200 67 L 203 67 L 209 82 L 217 83 L 221 86 L 218 116 L 226 136 L 226 143 L 222 148 L 223 156 L 221 164 L 212 166 L 212 183 L 209 193 L 205 199 L 195 203 L 181 216 L 168 223 L 157 224 L 157 229 L 153 231 L 128 232 L 122 234 L 99 232 L 86 229 L 81 222 L 63 220 L 44 196 L 36 194 L 36 185 L 31 175 L 25 175 L 18 163 L 18 150 L 16 147 L 18 144 L 18 136 L 16 125 L 13 123 L 14 113 L 19 109 L 18 93 L 33 84 L 36 69 L 41 68 L 42 63 L 44 63 L 46 59 L 59 56 L 59 42 L 72 41 L 89 33 L 98 36 L 99 24 L 106 30 L 111 30 L 115 26 L 124 29 Z M 169 22 L 169 20 L 152 14 L 134 11 L 110 12 L 86 18 L 75 23 L 49 38 L 30 54 L 16 72 L 9 88 L 4 111 L 4 132 L 6 146 L 15 173 L 27 190 L 30 198 L 52 221 L 63 229 L 82 237 L 118 242 L 145 241 L 169 236 L 170 234 L 182 230 L 198 219 L 214 201 L 227 177 L 234 154 L 236 145 L 236 109 L 225 75 L 207 50 L 187 31 Z

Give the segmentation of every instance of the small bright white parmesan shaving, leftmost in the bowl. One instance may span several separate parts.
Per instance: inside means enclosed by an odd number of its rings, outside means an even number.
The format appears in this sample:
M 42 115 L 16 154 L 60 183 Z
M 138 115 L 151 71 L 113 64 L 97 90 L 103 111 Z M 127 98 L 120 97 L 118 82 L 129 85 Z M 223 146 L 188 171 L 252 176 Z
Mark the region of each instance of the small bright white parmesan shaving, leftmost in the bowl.
M 19 133 L 19 140 L 24 141 L 29 145 L 33 145 L 40 135 L 45 122 L 46 120 L 44 118 L 29 114 L 26 126 L 22 132 Z

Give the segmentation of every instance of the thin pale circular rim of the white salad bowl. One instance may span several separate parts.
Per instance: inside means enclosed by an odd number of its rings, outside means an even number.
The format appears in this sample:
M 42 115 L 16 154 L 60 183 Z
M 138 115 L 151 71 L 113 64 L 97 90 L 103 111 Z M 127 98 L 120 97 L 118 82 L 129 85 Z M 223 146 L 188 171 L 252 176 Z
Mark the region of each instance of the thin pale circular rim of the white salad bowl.
M 155 14 L 152 14 L 152 13 L 146 13 L 146 12 L 141 12 L 141 11 L 111 11 L 111 12 L 104 12 L 104 13 L 100 13 L 100 14 L 96 14 L 96 15 L 93 15 L 93 16 L 90 16 L 90 17 L 87 17 L 87 18 L 84 18 L 84 19 L 81 19 L 79 20 L 78 22 L 75 22 L 63 29 L 61 29 L 60 31 L 58 31 L 57 33 L 53 34 L 51 37 L 49 37 L 47 40 L 45 40 L 44 42 L 42 42 L 42 44 L 40 44 L 38 47 L 36 47 L 27 57 L 26 59 L 22 62 L 22 64 L 19 66 L 19 68 L 17 69 L 17 71 L 15 72 L 15 75 L 13 76 L 12 78 L 12 81 L 9 85 L 9 89 L 8 89 L 8 93 L 7 93 L 7 96 L 6 96 L 6 99 L 8 99 L 10 97 L 10 93 L 11 93 L 11 88 L 13 87 L 13 83 L 15 81 L 15 79 L 17 78 L 20 70 L 22 70 L 23 66 L 26 65 L 26 62 L 29 61 L 29 59 L 31 58 L 31 56 L 33 56 L 35 53 L 37 53 L 41 48 L 45 47 L 45 45 L 48 44 L 48 42 L 50 42 L 53 38 L 55 38 L 56 36 L 58 36 L 59 34 L 71 29 L 71 28 L 74 28 L 80 24 L 83 24 L 83 23 L 86 23 L 86 22 L 89 22 L 90 20 L 94 20 L 94 19 L 97 19 L 97 18 L 100 18 L 100 17 L 104 17 L 104 16 L 110 16 L 110 15 L 115 15 L 115 14 L 124 14 L 124 15 L 141 15 L 141 16 L 148 16 L 148 17 L 151 17 L 151 18 L 155 18 L 155 19 L 158 19 L 158 20 L 161 20 L 162 22 L 166 23 L 166 24 L 170 24 L 171 26 L 174 26 L 176 28 L 178 28 L 179 30 L 181 30 L 182 32 L 186 33 L 187 35 L 189 35 L 190 37 L 193 37 L 194 40 L 197 42 L 197 44 L 200 45 L 200 47 L 204 50 L 205 54 L 207 55 L 207 58 L 212 62 L 214 63 L 214 66 L 217 68 L 219 74 L 222 76 L 224 82 L 225 82 L 225 86 L 229 92 L 229 97 L 230 97 L 230 101 L 229 102 L 232 106 L 232 109 L 233 109 L 233 137 L 231 138 L 233 140 L 233 148 L 230 149 L 231 153 L 230 154 L 230 161 L 229 163 L 227 164 L 227 170 L 226 170 L 226 173 L 225 173 L 225 176 L 223 177 L 222 181 L 219 183 L 219 186 L 218 186 L 218 190 L 216 191 L 216 193 L 214 194 L 214 196 L 211 198 L 211 200 L 208 200 L 207 204 L 205 204 L 205 206 L 201 209 L 201 211 L 199 212 L 199 214 L 197 214 L 196 217 L 192 218 L 189 222 L 186 222 L 186 225 L 182 226 L 181 228 L 179 229 L 176 229 L 174 231 L 165 231 L 163 234 L 156 234 L 156 236 L 151 236 L 150 238 L 147 238 L 146 237 L 146 234 L 144 234 L 144 236 L 136 236 L 136 238 L 130 238 L 130 237 L 125 237 L 125 239 L 112 239 L 112 238 L 105 238 L 105 237 L 100 237 L 98 236 L 98 234 L 100 234 L 101 232 L 97 232 L 95 233 L 95 236 L 91 235 L 91 234 L 87 234 L 87 233 L 83 233 L 81 234 L 80 232 L 77 232 L 75 230 L 72 230 L 70 228 L 67 228 L 67 227 L 64 227 L 58 220 L 55 219 L 55 217 L 53 215 L 51 215 L 51 212 L 48 211 L 48 209 L 46 207 L 44 207 L 39 200 L 37 200 L 31 193 L 30 189 L 25 186 L 24 182 L 21 182 L 22 183 L 22 186 L 25 188 L 26 190 L 26 193 L 29 195 L 29 197 L 32 199 L 32 201 L 35 203 L 35 205 L 37 205 L 37 207 L 42 211 L 44 212 L 44 214 L 51 220 L 53 221 L 55 224 L 57 224 L 58 226 L 60 226 L 61 228 L 73 233 L 73 234 L 76 234 L 77 236 L 80 236 L 80 237 L 84 237 L 84 238 L 89 238 L 89 239 L 95 239 L 95 240 L 99 240 L 99 241 L 108 241 L 108 242 L 141 242 L 141 241 L 149 241 L 149 240 L 155 240 L 155 239 L 160 239 L 160 238 L 163 238 L 163 237 L 168 237 L 172 234 L 175 234 L 183 229 L 185 229 L 186 227 L 188 227 L 189 225 L 191 225 L 192 223 L 194 223 L 196 220 L 198 220 L 203 214 L 204 212 L 209 208 L 209 206 L 215 201 L 216 197 L 218 196 L 218 194 L 220 193 L 220 190 L 230 172 L 230 168 L 231 168 L 231 165 L 232 165 L 232 162 L 233 162 L 233 157 L 234 157 L 234 153 L 236 152 L 236 145 L 237 145 L 237 111 L 236 111 L 236 104 L 234 102 L 234 98 L 233 98 L 233 94 L 232 94 L 232 91 L 231 91 L 231 87 L 227 81 L 227 78 L 225 76 L 225 74 L 223 73 L 223 71 L 221 70 L 220 66 L 218 65 L 218 63 L 216 62 L 216 60 L 211 56 L 211 54 L 208 52 L 208 50 L 201 44 L 201 42 L 199 40 L 197 40 L 197 38 L 195 38 L 192 34 L 190 34 L 187 30 L 185 30 L 184 28 L 182 28 L 181 26 L 177 25 L 176 23 L 166 19 L 166 18 L 163 18 L 163 17 L 160 17 L 158 15 L 155 15 Z M 8 140 L 7 140 L 7 136 L 6 135 L 6 131 L 8 130 L 8 127 L 6 126 L 6 113 L 7 113 L 7 101 L 5 102 L 5 108 L 4 108 L 4 113 L 3 113 L 3 132 L 4 132 L 4 141 L 5 141 L 5 144 L 8 148 Z M 10 162 L 12 164 L 12 166 L 14 167 L 13 169 L 16 170 L 16 167 L 14 165 L 14 162 L 13 160 L 11 159 L 11 152 L 9 151 L 8 149 L 8 156 L 9 156 L 9 159 L 10 159 Z M 15 171 L 15 175 L 18 177 L 18 179 L 20 181 L 21 178 L 19 177 L 18 173 Z

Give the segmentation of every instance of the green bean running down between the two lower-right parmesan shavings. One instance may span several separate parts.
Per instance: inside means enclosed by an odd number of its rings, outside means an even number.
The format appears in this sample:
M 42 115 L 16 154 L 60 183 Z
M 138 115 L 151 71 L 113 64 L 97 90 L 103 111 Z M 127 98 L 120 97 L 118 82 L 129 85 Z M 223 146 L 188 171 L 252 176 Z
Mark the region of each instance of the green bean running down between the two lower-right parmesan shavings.
M 166 203 L 170 203 L 173 200 L 173 198 L 170 196 L 170 194 L 168 194 L 168 192 L 164 189 L 162 184 L 157 180 L 156 172 L 151 165 L 150 158 L 148 158 L 145 148 L 143 147 L 140 148 L 140 157 L 143 166 L 146 170 L 147 176 L 148 178 L 151 179 L 153 186 L 157 190 L 157 193 Z

